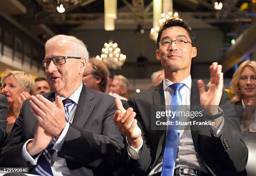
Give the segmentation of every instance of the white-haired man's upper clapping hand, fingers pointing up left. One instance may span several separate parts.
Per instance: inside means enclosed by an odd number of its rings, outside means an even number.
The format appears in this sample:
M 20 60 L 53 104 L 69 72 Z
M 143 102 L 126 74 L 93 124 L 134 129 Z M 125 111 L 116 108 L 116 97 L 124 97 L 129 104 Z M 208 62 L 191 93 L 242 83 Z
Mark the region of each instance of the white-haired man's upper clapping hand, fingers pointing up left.
M 57 138 L 66 125 L 65 108 L 59 96 L 51 102 L 40 94 L 31 96 L 31 112 L 42 127 Z

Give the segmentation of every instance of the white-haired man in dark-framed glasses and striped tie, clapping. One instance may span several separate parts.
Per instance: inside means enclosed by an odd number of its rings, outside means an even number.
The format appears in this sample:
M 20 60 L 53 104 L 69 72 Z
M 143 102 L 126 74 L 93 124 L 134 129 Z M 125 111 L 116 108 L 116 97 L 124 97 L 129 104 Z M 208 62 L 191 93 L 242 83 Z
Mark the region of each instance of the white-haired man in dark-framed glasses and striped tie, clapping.
M 113 175 L 123 138 L 112 121 L 114 98 L 82 83 L 88 55 L 73 36 L 46 42 L 42 64 L 53 92 L 24 102 L 0 150 L 1 167 L 44 176 Z

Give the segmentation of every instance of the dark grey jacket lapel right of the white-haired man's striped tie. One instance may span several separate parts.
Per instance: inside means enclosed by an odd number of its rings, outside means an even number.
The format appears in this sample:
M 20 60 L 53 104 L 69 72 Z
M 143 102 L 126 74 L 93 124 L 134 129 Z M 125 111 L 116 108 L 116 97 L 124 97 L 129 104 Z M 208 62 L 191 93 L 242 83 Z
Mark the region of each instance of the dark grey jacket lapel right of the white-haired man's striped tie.
M 85 85 L 82 87 L 82 91 L 78 100 L 77 110 L 74 115 L 73 124 L 83 127 L 88 117 L 92 113 L 95 107 L 94 94 Z

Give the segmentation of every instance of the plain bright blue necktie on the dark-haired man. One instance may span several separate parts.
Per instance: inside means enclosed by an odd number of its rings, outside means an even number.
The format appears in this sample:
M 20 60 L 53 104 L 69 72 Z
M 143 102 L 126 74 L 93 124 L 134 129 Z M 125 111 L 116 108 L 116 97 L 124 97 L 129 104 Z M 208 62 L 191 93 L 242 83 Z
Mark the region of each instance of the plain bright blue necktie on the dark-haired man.
M 182 83 L 174 83 L 170 85 L 170 88 L 174 90 L 172 94 L 172 103 L 171 103 L 171 111 L 178 112 L 179 106 L 182 105 L 182 96 L 180 94 L 180 90 L 184 87 L 185 84 Z M 171 122 L 179 120 L 179 116 L 169 117 Z M 178 125 L 169 125 L 166 137 L 166 143 L 164 148 L 164 160 L 162 165 L 161 176 L 173 176 L 174 167 L 177 155 L 177 149 L 179 144 L 179 126 Z

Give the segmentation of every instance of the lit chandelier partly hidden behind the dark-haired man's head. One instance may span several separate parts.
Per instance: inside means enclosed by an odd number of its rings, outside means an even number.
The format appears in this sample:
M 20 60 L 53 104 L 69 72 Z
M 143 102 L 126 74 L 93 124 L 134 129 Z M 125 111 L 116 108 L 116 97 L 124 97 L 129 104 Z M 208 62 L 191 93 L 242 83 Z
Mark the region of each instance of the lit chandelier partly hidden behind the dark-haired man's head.
M 163 25 L 164 22 L 172 18 L 174 18 L 175 20 L 182 20 L 181 18 L 179 18 L 179 13 L 177 12 L 175 12 L 174 14 L 172 12 L 168 12 L 167 15 L 162 13 L 161 19 L 159 20 L 159 26 L 156 26 L 155 28 L 151 28 L 149 37 L 156 42 L 160 27 Z

